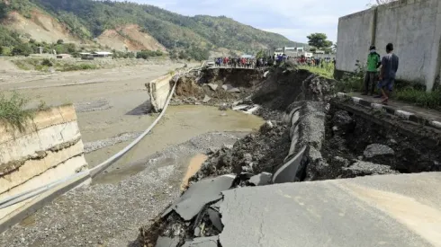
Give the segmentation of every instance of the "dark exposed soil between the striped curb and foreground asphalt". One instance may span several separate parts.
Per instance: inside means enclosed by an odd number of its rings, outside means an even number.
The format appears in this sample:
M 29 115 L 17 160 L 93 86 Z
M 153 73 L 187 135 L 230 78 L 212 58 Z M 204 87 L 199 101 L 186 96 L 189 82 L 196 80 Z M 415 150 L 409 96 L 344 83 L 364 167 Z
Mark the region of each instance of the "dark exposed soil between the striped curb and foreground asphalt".
M 344 110 L 345 106 L 351 111 Z M 441 171 L 441 132 L 435 128 L 333 101 L 326 133 L 322 154 L 329 163 L 339 156 L 349 161 L 380 163 L 403 173 Z M 377 154 L 370 154 L 373 152 Z

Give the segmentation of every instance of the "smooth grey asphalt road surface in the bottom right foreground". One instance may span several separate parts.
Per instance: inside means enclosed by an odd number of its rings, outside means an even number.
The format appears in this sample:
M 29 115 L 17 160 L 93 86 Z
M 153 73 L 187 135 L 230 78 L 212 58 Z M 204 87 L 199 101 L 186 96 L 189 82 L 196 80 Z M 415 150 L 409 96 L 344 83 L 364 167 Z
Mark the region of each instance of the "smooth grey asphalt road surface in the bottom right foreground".
M 439 246 L 441 173 L 227 190 L 223 247 Z

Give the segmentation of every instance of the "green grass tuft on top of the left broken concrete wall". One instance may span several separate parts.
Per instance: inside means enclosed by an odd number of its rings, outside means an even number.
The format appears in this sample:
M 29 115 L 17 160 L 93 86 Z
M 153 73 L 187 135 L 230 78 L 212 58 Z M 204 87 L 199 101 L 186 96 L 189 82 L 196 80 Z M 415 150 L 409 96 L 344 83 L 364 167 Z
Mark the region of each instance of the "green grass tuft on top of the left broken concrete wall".
M 0 93 L 0 121 L 10 125 L 12 128 L 23 130 L 28 120 L 33 117 L 33 110 L 26 110 L 28 99 L 19 93 L 6 96 Z

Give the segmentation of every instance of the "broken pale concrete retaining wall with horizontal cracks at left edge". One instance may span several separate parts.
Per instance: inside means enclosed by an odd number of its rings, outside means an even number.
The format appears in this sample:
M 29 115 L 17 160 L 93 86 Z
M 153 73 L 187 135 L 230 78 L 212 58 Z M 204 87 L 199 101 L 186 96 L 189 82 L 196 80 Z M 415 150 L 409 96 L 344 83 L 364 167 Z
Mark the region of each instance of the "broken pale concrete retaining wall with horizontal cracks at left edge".
M 0 124 L 0 199 L 87 169 L 83 154 L 72 105 L 38 112 L 22 131 Z M 31 201 L 0 209 L 0 219 Z

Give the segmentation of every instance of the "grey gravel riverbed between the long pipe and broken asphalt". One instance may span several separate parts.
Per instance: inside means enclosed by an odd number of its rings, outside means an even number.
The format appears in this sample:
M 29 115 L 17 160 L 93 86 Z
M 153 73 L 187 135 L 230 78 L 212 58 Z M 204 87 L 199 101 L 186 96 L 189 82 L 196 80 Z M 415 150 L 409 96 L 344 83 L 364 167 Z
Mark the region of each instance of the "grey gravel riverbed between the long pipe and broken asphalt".
M 187 160 L 209 147 L 232 145 L 245 135 L 219 132 L 194 137 L 131 164 L 145 168 L 123 181 L 69 191 L 1 234 L 0 246 L 138 246 L 139 226 L 151 224 L 180 195 Z

